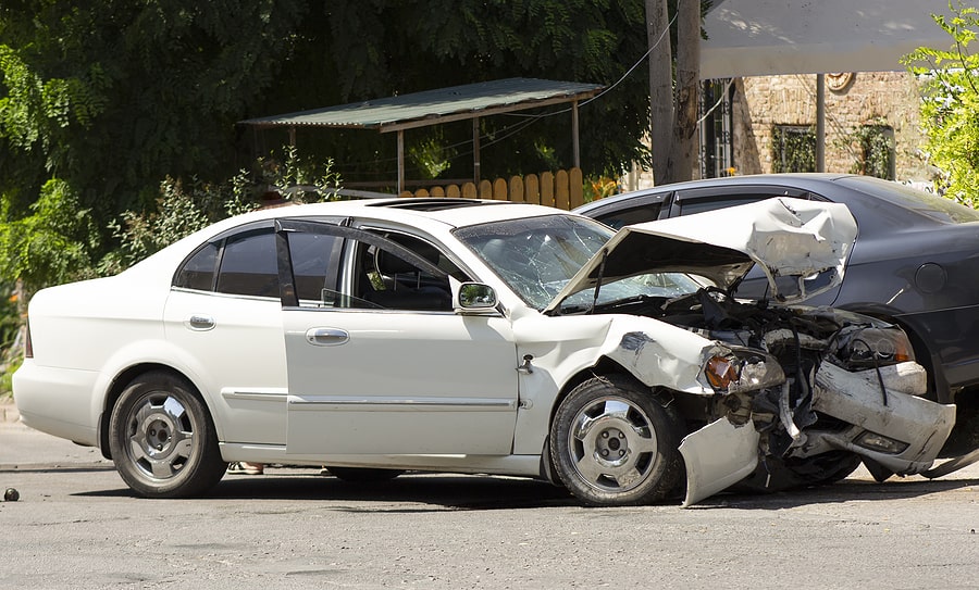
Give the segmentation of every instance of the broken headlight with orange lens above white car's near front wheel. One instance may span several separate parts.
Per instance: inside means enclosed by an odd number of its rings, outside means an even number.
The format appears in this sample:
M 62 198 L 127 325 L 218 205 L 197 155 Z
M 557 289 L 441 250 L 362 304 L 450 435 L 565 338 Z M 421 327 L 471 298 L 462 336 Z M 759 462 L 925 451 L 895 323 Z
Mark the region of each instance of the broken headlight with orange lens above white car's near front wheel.
M 784 381 L 785 374 L 774 356 L 752 349 L 716 349 L 701 371 L 701 384 L 722 394 L 755 391 Z

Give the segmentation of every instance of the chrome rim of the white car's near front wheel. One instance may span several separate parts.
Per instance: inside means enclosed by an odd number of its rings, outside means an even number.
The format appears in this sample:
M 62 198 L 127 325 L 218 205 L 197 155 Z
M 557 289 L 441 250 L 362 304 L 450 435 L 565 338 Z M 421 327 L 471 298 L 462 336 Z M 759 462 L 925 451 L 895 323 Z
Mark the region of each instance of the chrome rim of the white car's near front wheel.
M 648 479 L 656 457 L 649 417 L 622 398 L 600 398 L 571 423 L 568 449 L 579 477 L 603 492 L 624 492 Z

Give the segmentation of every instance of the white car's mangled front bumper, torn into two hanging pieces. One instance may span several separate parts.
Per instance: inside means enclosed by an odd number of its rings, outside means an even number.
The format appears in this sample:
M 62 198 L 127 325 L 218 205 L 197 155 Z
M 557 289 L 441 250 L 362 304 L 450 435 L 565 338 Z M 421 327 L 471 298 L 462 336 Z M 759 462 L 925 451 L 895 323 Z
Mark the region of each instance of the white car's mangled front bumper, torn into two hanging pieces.
M 848 372 L 822 363 L 815 376 L 811 409 L 848 424 L 831 431 L 798 431 L 783 414 L 782 427 L 793 434 L 788 454 L 815 456 L 833 450 L 854 452 L 900 474 L 931 467 L 955 423 L 955 406 L 925 400 L 925 369 L 914 362 Z M 760 460 L 760 436 L 748 420 L 727 416 L 686 436 L 680 452 L 686 464 L 690 506 L 736 484 Z

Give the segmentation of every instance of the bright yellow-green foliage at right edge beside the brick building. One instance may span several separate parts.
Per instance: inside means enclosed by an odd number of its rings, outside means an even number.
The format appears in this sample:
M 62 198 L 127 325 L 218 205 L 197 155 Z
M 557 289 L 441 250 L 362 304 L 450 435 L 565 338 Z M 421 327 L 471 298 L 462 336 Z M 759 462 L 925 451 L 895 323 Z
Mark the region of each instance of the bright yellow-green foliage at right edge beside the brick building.
M 941 174 L 935 189 L 979 206 L 979 55 L 969 52 L 979 30 L 979 10 L 950 4 L 954 15 L 932 15 L 952 38 L 950 50 L 919 48 L 904 60 L 921 81 L 925 151 Z M 916 65 L 921 62 L 928 65 Z

